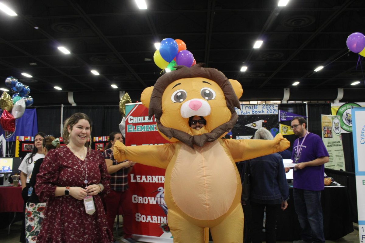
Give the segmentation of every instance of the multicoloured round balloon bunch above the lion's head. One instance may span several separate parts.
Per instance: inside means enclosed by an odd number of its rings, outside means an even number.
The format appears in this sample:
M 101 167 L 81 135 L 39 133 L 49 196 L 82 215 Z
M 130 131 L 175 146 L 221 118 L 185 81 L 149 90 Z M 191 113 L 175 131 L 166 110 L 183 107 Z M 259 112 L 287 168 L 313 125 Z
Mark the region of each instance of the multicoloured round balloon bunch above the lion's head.
M 153 54 L 153 60 L 161 69 L 176 70 L 174 66 L 194 66 L 196 60 L 193 54 L 186 50 L 186 44 L 180 39 L 165 38 L 160 43 L 160 49 Z

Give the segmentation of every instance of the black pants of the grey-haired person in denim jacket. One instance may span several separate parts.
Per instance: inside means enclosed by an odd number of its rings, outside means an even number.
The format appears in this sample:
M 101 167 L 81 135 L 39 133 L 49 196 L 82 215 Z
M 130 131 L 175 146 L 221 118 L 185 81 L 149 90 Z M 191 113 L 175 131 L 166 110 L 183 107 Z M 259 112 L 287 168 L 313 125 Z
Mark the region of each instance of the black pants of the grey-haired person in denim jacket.
M 266 242 L 276 242 L 276 220 L 280 212 L 281 204 L 260 204 L 251 202 L 252 227 L 250 237 L 253 243 L 262 242 L 262 223 L 264 220 L 264 209 L 266 207 L 265 232 Z

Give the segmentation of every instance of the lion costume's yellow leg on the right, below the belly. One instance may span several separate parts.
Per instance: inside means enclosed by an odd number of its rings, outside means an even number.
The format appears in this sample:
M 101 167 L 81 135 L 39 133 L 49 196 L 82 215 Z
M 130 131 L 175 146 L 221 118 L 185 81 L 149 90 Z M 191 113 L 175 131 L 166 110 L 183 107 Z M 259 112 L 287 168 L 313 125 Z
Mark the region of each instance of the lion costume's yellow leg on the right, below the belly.
M 243 210 L 241 204 L 214 228 L 210 229 L 214 243 L 243 242 Z

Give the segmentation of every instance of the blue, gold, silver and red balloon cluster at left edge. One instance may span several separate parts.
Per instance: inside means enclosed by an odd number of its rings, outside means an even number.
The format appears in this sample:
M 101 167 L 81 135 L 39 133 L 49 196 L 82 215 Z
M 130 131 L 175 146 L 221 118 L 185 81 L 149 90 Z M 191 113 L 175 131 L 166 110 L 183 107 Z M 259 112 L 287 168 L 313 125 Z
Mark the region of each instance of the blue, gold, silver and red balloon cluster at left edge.
M 18 79 L 14 77 L 7 77 L 5 85 L 15 91 L 12 97 L 6 92 L 0 97 L 0 107 L 3 110 L 0 125 L 5 133 L 10 133 L 15 132 L 15 119 L 22 117 L 25 107 L 33 104 L 33 98 L 28 96 L 30 88 L 18 82 Z M 5 134 L 5 136 L 7 135 Z

